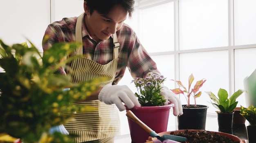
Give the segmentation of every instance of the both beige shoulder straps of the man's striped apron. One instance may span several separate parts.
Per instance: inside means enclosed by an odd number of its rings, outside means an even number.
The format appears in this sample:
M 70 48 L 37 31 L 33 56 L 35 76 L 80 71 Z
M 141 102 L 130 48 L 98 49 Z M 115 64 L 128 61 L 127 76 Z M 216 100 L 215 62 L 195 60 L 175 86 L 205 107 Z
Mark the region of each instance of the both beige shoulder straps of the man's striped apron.
M 83 16 L 85 13 L 82 13 L 81 15 L 79 15 L 79 17 L 77 18 L 76 21 L 76 42 L 81 42 L 83 43 L 83 39 L 82 39 L 82 20 L 83 20 Z M 118 50 L 120 47 L 120 43 L 117 40 L 117 33 L 112 35 L 113 37 L 113 56 L 114 59 L 118 58 Z M 83 55 L 83 45 L 81 45 L 77 50 L 76 50 L 76 55 Z

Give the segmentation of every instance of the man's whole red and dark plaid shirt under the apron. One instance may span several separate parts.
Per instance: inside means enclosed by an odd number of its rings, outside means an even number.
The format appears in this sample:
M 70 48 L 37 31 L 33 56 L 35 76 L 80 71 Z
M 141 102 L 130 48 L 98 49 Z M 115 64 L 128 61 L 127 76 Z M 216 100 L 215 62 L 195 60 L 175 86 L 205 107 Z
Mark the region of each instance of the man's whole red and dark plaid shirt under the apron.
M 45 35 L 49 36 L 49 39 L 43 43 L 43 50 L 47 50 L 56 42 L 75 41 L 76 20 L 77 17 L 63 18 L 61 21 L 50 24 L 45 31 Z M 105 65 L 113 60 L 112 37 L 97 43 L 90 37 L 83 21 L 82 37 L 83 54 L 89 55 L 93 61 L 101 65 Z M 139 42 L 135 32 L 127 24 L 123 24 L 122 28 L 117 31 L 117 39 L 120 43 L 119 61 L 113 84 L 117 84 L 121 80 L 126 67 L 128 67 L 132 78 L 144 77 L 148 72 L 157 72 L 160 74 L 155 62 Z M 59 69 L 58 73 L 66 74 L 67 71 Z

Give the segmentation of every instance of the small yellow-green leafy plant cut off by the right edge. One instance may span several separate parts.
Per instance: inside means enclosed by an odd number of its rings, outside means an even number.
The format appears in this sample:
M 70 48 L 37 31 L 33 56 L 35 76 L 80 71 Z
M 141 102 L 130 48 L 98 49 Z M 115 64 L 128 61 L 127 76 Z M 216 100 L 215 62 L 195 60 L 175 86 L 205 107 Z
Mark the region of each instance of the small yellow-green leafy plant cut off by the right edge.
M 240 114 L 245 117 L 252 126 L 256 126 L 256 108 L 253 105 L 248 108 L 241 106 Z

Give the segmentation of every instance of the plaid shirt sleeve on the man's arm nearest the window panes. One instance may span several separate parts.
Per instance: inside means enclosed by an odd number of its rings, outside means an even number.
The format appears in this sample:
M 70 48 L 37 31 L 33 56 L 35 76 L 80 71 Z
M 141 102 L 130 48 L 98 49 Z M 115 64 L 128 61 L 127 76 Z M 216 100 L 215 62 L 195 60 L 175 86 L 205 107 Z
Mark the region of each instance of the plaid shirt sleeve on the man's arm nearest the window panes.
M 136 33 L 128 25 L 124 24 L 117 32 L 118 41 L 121 45 L 119 49 L 119 67 L 117 68 L 118 76 L 114 84 L 124 75 L 126 66 L 128 67 L 132 78 L 141 78 L 150 72 L 160 75 L 156 63 L 150 57 L 148 52 L 141 45 Z M 123 56 L 124 55 L 124 56 Z M 124 64 L 121 61 L 126 61 Z

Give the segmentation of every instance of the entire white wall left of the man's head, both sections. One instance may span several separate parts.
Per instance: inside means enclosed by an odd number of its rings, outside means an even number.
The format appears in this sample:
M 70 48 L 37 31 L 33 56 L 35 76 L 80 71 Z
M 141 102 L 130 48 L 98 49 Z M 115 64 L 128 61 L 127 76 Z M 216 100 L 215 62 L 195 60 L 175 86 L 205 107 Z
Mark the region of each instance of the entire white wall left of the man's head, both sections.
M 30 40 L 43 52 L 48 24 L 82 12 L 83 0 L 0 0 L 0 39 L 8 45 Z

